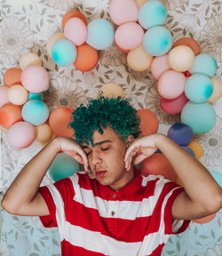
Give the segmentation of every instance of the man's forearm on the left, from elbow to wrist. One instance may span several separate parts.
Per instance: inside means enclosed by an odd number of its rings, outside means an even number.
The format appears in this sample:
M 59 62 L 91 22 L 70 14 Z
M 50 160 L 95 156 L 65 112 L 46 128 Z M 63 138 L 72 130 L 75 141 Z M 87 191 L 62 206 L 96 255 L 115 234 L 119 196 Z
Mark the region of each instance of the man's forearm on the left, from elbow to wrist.
M 52 140 L 22 168 L 4 194 L 2 204 L 8 204 L 11 209 L 16 209 L 22 204 L 30 203 L 58 152 L 58 144 L 56 140 Z

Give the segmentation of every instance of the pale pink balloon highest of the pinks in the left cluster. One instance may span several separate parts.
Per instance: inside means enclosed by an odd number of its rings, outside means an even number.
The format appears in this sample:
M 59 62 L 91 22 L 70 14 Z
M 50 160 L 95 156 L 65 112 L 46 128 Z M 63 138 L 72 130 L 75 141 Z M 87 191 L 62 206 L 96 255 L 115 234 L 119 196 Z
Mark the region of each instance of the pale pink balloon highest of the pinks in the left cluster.
M 21 73 L 21 84 L 28 92 L 44 92 L 49 83 L 49 74 L 42 66 L 28 66 Z

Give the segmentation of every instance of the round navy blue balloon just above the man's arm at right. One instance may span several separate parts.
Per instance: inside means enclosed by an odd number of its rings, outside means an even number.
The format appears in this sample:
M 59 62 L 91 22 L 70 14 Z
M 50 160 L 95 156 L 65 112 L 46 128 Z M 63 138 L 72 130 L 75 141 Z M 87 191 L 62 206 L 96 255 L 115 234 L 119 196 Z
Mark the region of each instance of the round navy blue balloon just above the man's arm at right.
M 176 123 L 170 127 L 167 136 L 179 146 L 187 146 L 193 139 L 193 132 L 188 125 Z

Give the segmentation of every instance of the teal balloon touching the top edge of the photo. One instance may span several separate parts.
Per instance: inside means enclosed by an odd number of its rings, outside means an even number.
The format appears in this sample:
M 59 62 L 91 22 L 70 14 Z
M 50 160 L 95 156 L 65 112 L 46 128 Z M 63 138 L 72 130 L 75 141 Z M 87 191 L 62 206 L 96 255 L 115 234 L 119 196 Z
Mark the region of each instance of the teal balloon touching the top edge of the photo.
M 148 1 L 139 9 L 139 24 L 145 29 L 163 25 L 166 18 L 166 7 L 159 1 Z

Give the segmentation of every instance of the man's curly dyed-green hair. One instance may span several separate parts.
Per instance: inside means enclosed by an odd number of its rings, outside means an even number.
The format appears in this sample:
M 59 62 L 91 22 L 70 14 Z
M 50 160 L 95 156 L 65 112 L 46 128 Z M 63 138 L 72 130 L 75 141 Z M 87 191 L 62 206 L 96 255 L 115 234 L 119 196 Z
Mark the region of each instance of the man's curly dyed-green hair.
M 74 129 L 75 140 L 78 143 L 86 143 L 86 145 L 91 143 L 94 146 L 92 140 L 94 131 L 98 130 L 102 134 L 102 129 L 109 126 L 122 140 L 126 140 L 129 135 L 138 138 L 139 123 L 137 110 L 132 108 L 128 101 L 122 100 L 121 97 L 108 99 L 100 96 L 98 100 L 90 100 L 86 107 L 82 104 L 76 108 L 68 127 Z

